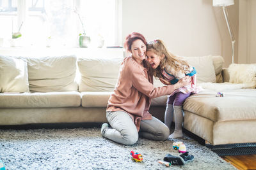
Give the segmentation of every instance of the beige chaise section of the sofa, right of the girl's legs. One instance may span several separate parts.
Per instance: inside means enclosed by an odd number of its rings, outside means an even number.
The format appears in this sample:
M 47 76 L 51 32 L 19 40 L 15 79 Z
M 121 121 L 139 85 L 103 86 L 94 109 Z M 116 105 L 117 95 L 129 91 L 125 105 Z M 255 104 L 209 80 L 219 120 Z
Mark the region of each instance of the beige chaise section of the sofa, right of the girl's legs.
M 184 128 L 212 145 L 256 141 L 256 89 L 205 90 L 186 99 Z M 253 130 L 254 129 L 254 130 Z

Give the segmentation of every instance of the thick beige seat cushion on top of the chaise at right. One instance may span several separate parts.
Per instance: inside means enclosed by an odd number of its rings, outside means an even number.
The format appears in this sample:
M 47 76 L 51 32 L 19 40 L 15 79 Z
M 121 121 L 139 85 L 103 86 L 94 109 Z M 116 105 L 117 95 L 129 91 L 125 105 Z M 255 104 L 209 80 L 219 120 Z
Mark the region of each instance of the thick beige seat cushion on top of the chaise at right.
M 256 120 L 256 89 L 227 90 L 216 97 L 213 90 L 204 90 L 186 99 L 183 109 L 213 122 Z

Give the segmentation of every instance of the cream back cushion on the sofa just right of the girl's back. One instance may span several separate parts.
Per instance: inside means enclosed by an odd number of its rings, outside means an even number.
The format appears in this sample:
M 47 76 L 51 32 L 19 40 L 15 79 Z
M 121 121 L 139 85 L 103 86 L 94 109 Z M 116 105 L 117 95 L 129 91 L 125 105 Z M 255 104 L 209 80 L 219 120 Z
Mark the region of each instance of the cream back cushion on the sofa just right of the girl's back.
M 196 69 L 196 80 L 198 83 L 212 82 L 215 83 L 216 75 L 211 56 L 202 57 L 182 57 Z

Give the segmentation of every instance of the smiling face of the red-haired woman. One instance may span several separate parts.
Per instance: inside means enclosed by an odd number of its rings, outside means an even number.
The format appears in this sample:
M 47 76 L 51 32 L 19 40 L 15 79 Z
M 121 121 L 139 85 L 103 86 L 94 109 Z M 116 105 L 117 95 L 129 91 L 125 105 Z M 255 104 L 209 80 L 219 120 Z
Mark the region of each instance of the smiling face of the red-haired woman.
M 133 41 L 131 46 L 132 58 L 141 64 L 142 60 L 146 59 L 147 47 L 140 39 Z

